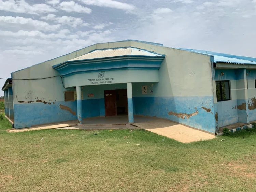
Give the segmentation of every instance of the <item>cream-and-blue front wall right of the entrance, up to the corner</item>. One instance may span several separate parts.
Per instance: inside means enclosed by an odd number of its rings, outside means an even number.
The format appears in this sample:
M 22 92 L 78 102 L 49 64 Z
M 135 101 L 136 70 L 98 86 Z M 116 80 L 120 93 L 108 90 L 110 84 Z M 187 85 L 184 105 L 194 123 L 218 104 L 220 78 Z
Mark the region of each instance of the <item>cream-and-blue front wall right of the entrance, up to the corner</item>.
M 135 114 L 170 119 L 215 133 L 211 58 L 162 46 L 131 42 L 131 46 L 166 55 L 159 83 L 147 83 L 153 94 L 133 83 Z

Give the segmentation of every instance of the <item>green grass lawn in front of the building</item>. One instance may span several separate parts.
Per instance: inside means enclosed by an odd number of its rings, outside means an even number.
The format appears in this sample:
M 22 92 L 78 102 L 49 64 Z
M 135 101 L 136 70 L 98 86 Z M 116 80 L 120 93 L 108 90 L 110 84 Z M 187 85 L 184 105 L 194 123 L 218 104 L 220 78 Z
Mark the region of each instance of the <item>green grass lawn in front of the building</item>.
M 256 191 L 255 130 L 183 144 L 144 130 L 10 128 L 0 121 L 0 191 Z

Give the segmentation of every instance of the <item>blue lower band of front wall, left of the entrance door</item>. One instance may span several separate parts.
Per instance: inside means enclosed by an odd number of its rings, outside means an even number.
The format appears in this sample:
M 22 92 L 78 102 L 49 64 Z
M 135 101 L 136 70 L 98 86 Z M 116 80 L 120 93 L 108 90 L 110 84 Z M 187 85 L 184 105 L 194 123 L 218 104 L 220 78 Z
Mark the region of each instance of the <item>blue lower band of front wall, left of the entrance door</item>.
M 82 100 L 83 118 L 100 116 L 99 103 L 101 100 L 102 99 Z M 71 112 L 61 109 L 60 105 L 69 107 Z M 42 102 L 14 104 L 14 112 L 14 126 L 16 129 L 19 129 L 31 127 L 32 125 L 76 120 L 77 103 L 76 101 L 59 101 L 51 102 L 51 104 Z

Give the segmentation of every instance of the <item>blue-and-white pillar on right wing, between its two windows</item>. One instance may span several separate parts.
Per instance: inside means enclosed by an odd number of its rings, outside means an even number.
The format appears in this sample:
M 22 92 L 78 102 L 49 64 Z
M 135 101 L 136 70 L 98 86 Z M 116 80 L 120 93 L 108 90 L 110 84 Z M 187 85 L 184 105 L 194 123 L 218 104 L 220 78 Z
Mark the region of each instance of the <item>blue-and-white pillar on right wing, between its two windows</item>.
M 240 123 L 249 123 L 246 69 L 236 69 L 237 114 Z

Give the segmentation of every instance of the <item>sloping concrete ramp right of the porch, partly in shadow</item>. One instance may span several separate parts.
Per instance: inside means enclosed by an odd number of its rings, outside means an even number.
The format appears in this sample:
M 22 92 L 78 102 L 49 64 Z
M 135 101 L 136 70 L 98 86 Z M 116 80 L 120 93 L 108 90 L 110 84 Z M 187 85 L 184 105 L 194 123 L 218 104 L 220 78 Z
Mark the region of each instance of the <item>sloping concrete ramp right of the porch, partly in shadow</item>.
M 162 119 L 157 119 L 150 122 L 134 123 L 133 125 L 147 131 L 175 139 L 182 143 L 216 138 L 212 134 Z

